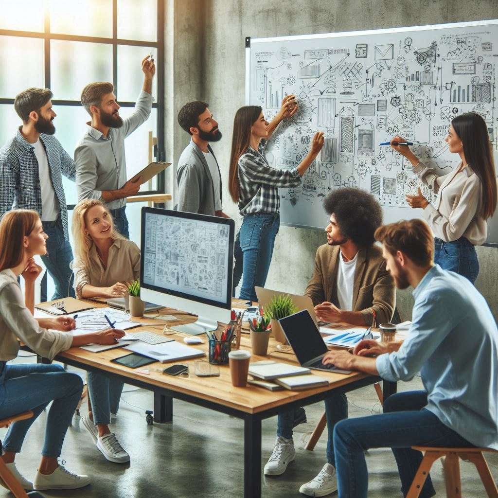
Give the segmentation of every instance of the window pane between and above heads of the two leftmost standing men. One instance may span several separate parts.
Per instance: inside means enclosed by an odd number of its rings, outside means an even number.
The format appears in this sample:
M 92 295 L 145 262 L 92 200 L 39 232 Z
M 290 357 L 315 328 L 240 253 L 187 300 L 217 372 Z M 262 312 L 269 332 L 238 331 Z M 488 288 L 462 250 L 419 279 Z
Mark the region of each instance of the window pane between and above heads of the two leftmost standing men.
M 113 81 L 112 45 L 52 40 L 50 54 L 54 99 L 79 101 L 89 83 Z

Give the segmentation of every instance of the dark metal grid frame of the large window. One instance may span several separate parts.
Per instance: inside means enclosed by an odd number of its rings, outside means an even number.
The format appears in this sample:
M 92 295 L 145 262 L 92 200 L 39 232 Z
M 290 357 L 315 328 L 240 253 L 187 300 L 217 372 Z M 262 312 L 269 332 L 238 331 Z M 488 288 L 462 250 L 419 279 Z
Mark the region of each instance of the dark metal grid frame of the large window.
M 113 0 L 113 36 L 112 38 L 96 36 L 80 36 L 69 34 L 58 34 L 50 32 L 50 11 L 45 7 L 44 31 L 19 31 L 10 29 L 0 29 L 0 36 L 19 36 L 26 38 L 42 38 L 44 40 L 44 85 L 50 88 L 50 42 L 52 40 L 83 41 L 90 43 L 105 43 L 113 47 L 113 84 L 118 95 L 118 46 L 131 45 L 135 47 L 153 47 L 157 50 L 157 60 L 160 61 L 160 70 L 156 72 L 157 78 L 157 101 L 152 104 L 152 108 L 157 109 L 157 145 L 154 146 L 153 156 L 157 161 L 165 160 L 165 140 L 164 140 L 164 0 L 157 0 L 157 41 L 128 40 L 118 38 L 118 0 Z M 14 99 L 0 98 L 0 105 L 13 105 Z M 54 106 L 81 107 L 81 102 L 75 100 L 52 99 Z M 135 107 L 135 102 L 119 101 L 121 107 Z M 137 196 L 149 196 L 153 194 L 165 194 L 165 172 L 161 171 L 157 175 L 157 188 L 155 190 L 139 191 Z M 74 209 L 75 204 L 68 205 L 68 210 Z

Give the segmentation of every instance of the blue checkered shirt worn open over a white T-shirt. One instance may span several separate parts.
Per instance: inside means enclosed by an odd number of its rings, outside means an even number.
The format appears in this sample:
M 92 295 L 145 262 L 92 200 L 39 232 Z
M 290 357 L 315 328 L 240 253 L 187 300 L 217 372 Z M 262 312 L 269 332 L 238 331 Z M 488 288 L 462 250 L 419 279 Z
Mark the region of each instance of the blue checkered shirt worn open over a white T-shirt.
M 54 136 L 42 133 L 40 139 L 47 153 L 50 177 L 59 201 L 64 238 L 69 241 L 67 204 L 62 176 L 73 182 L 76 166 Z M 43 178 L 43 181 L 48 179 Z M 0 149 L 0 218 L 11 209 L 32 209 L 41 217 L 41 188 L 34 147 L 24 139 L 20 129 Z

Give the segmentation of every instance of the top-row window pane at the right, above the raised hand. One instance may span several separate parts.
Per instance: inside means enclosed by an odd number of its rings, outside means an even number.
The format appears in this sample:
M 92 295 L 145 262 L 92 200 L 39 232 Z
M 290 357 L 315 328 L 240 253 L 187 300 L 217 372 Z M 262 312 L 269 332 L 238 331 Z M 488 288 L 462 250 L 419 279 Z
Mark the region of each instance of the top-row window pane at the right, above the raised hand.
M 157 0 L 118 0 L 118 38 L 157 41 Z

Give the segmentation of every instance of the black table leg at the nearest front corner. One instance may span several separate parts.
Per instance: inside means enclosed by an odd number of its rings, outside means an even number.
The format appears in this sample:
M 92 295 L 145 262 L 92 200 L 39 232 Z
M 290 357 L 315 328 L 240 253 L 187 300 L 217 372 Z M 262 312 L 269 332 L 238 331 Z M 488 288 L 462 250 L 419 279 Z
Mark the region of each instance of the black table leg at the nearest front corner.
M 261 497 L 261 420 L 244 419 L 244 498 Z

